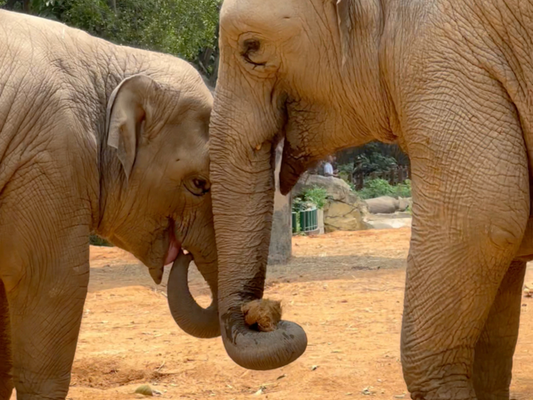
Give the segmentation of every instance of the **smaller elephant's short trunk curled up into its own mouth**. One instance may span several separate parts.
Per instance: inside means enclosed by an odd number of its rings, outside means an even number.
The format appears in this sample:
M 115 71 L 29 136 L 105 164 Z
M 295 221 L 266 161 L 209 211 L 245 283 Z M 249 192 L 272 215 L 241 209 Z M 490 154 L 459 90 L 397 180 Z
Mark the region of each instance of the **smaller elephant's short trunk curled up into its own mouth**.
M 190 253 L 184 254 L 180 250 L 174 261 L 168 277 L 168 307 L 174 321 L 184 332 L 196 338 L 216 338 L 220 335 L 216 262 L 197 262 L 197 267 L 209 284 L 213 295 L 211 305 L 202 308 L 189 291 L 187 277 L 192 259 Z

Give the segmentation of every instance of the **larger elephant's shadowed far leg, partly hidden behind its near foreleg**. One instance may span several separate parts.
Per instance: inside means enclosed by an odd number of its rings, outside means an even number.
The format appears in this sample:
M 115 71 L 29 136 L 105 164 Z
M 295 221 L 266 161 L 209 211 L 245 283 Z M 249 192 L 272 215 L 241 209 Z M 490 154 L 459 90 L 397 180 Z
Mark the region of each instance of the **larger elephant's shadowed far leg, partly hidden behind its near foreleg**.
M 473 381 L 478 400 L 509 400 L 525 275 L 526 262 L 514 260 L 475 346 Z

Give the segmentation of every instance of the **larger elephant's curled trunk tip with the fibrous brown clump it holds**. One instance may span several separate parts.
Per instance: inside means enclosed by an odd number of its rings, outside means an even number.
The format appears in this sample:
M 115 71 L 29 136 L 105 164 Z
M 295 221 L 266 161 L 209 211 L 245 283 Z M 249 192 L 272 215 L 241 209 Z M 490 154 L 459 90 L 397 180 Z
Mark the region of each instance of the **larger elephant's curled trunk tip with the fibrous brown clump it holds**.
M 273 370 L 290 364 L 307 347 L 301 326 L 281 319 L 279 301 L 257 299 L 220 316 L 228 355 L 249 370 Z

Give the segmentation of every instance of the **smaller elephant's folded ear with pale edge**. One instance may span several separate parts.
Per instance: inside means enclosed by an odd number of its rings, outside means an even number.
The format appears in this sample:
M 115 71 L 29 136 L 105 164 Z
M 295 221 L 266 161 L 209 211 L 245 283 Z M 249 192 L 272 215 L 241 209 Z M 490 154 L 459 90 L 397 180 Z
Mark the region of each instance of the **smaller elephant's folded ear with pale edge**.
M 117 156 L 126 174 L 126 181 L 135 163 L 139 140 L 149 118 L 152 93 L 156 82 L 146 75 L 123 79 L 111 93 L 107 104 L 107 144 L 117 149 Z

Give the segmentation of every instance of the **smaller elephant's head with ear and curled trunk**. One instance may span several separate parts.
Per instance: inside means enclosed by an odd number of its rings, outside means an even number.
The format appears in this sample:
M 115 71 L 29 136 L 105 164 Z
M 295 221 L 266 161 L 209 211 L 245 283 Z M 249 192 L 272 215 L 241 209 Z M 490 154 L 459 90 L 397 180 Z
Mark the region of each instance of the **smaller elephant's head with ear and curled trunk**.
M 96 233 L 131 252 L 159 284 L 168 282 L 171 313 L 196 337 L 220 334 L 217 257 L 209 182 L 208 124 L 212 95 L 191 66 L 173 60 L 168 73 L 137 74 L 108 101 L 99 143 L 100 220 Z M 201 309 L 189 293 L 187 250 L 206 279 L 213 305 Z

